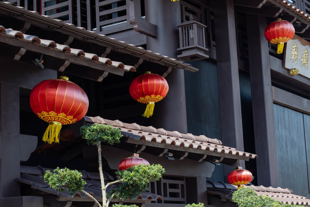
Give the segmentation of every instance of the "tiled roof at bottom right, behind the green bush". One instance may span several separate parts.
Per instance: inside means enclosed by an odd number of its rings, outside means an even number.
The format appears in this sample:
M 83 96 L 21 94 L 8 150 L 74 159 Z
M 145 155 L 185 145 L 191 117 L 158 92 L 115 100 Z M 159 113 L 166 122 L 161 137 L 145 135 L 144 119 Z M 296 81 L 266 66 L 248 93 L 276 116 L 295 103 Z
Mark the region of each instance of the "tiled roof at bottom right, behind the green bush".
M 310 200 L 304 196 L 294 195 L 292 190 L 281 187 L 264 187 L 264 186 L 245 186 L 252 188 L 257 195 L 265 195 L 280 201 L 283 204 L 306 205 L 310 206 Z M 237 190 L 237 186 L 222 182 L 207 182 L 208 195 L 217 195 L 221 198 L 231 201 L 232 192 Z M 223 200 L 223 199 L 222 199 Z

